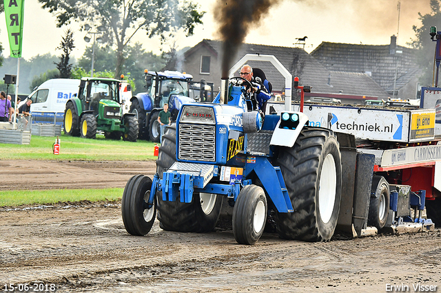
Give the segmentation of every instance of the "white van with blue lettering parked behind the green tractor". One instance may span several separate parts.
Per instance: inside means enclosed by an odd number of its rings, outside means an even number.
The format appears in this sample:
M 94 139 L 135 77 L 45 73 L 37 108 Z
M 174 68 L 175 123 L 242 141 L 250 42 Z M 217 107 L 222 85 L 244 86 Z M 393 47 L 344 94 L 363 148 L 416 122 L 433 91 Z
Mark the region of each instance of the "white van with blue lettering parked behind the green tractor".
M 79 79 L 67 78 L 54 78 L 42 83 L 28 96 L 32 100 L 32 122 L 63 124 L 66 102 L 78 94 L 79 85 Z

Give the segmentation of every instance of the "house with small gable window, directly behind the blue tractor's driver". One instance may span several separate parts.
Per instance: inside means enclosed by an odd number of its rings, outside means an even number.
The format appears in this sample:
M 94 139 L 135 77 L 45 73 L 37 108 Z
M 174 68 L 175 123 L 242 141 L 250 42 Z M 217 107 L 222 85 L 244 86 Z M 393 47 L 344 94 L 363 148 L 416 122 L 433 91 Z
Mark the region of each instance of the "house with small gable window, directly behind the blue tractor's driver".
M 214 83 L 214 89 L 220 86 L 220 63 L 222 61 L 222 43 L 204 39 L 183 54 L 179 63 L 168 64 L 166 69 L 178 69 Z M 362 102 L 363 99 L 387 99 L 387 92 L 367 74 L 336 72 L 327 69 L 305 50 L 297 47 L 280 47 L 244 43 L 238 50 L 234 63 L 245 54 L 274 55 L 293 76 L 300 78 L 300 85 L 310 85 L 308 96 L 339 98 L 342 102 Z M 285 78 L 269 62 L 252 61 L 252 67 L 263 69 L 267 79 L 273 85 L 273 93 L 285 90 Z M 232 64 L 234 65 L 234 64 Z M 236 73 L 238 76 L 238 72 Z

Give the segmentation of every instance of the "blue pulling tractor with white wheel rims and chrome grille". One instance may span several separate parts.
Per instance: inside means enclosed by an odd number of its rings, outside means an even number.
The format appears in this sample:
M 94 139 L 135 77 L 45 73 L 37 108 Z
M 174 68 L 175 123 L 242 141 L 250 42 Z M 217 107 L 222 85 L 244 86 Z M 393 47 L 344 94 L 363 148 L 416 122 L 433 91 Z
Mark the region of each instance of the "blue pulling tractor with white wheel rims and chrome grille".
M 240 77 L 223 79 L 212 103 L 183 105 L 163 136 L 156 175 L 136 175 L 125 186 L 127 232 L 147 234 L 156 210 L 165 230 L 212 231 L 227 197 L 238 243 L 256 243 L 270 212 L 284 239 L 331 239 L 342 191 L 337 137 L 289 110 L 291 74 L 269 57 L 287 80 L 287 110 L 264 116 Z

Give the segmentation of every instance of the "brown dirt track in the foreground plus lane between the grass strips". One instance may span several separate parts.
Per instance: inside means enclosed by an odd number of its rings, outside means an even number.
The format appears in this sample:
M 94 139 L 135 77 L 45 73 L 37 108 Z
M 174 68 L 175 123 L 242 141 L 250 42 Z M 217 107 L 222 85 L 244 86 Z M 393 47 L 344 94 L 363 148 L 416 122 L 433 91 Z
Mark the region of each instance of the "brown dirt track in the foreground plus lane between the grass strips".
M 120 171 L 120 163 L 24 163 L 38 189 L 81 182 L 71 178 L 74 169 L 91 187 L 101 180 L 99 186 L 108 186 L 110 174 L 119 173 L 111 184 L 123 187 L 132 172 L 154 172 L 152 162 Z M 72 186 L 81 187 L 64 187 Z M 416 292 L 413 285 L 437 285 L 441 292 L 439 229 L 327 243 L 264 234 L 256 246 L 240 246 L 231 230 L 167 232 L 157 222 L 149 235 L 130 236 L 118 202 L 0 208 L 0 218 L 1 290 L 5 283 L 39 281 L 56 284 L 57 292 L 387 292 L 387 284 L 407 285 L 409 292 Z

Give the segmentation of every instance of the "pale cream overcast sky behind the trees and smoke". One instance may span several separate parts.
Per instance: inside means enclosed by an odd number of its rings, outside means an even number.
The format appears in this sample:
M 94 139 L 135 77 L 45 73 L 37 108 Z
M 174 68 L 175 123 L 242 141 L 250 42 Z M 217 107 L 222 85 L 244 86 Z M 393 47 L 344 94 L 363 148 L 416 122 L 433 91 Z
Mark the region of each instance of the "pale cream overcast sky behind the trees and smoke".
M 213 15 L 216 1 L 193 0 L 207 12 L 203 17 L 204 25 L 198 25 L 194 36 L 184 35 L 176 38 L 178 49 L 194 46 L 203 39 L 216 39 L 217 25 Z M 406 45 L 414 38 L 412 25 L 420 26 L 418 12 L 430 12 L 429 0 L 401 0 L 400 29 L 398 44 Z M 334 43 L 354 43 L 366 45 L 386 45 L 390 37 L 398 31 L 398 1 L 396 0 L 280 0 L 272 7 L 260 25 L 249 32 L 246 42 L 280 45 L 290 47 L 296 38 L 308 36 L 305 50 L 311 52 L 322 41 Z M 0 42 L 3 56 L 9 56 L 9 43 L 4 14 L 0 21 Z M 435 23 L 433 25 L 436 25 Z M 59 56 L 55 50 L 65 31 L 74 31 L 74 56 L 83 55 L 86 45 L 84 32 L 79 32 L 79 25 L 57 28 L 55 17 L 48 10 L 41 9 L 37 0 L 25 0 L 25 19 L 23 28 L 23 58 L 29 59 L 37 54 L 50 52 Z M 441 28 L 440 28 L 441 29 Z M 429 36 L 428 36 L 429 37 Z M 138 32 L 136 41 L 143 43 L 147 51 L 158 53 L 158 40 L 148 39 L 143 32 Z

